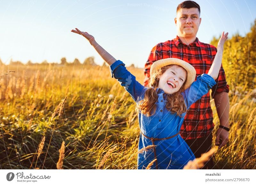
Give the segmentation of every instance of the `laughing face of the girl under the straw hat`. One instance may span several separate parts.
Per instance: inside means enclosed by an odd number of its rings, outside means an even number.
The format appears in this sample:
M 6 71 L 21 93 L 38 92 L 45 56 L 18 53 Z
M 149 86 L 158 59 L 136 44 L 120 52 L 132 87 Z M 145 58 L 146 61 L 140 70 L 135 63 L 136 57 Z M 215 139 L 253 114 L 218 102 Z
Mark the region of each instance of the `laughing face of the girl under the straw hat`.
M 159 78 L 158 88 L 166 94 L 180 90 L 187 78 L 187 71 L 178 65 L 171 65 Z

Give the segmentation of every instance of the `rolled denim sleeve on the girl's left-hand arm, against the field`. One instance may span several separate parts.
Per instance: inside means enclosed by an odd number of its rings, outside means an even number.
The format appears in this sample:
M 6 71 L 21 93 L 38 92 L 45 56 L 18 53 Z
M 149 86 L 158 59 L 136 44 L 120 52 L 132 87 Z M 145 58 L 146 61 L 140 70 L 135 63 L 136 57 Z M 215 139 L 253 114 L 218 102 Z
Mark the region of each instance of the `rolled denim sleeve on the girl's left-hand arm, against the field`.
M 114 77 L 132 96 L 132 99 L 137 102 L 138 98 L 143 95 L 146 88 L 136 81 L 136 77 L 124 66 L 125 64 L 121 60 L 116 60 L 112 65 L 110 65 L 111 77 Z

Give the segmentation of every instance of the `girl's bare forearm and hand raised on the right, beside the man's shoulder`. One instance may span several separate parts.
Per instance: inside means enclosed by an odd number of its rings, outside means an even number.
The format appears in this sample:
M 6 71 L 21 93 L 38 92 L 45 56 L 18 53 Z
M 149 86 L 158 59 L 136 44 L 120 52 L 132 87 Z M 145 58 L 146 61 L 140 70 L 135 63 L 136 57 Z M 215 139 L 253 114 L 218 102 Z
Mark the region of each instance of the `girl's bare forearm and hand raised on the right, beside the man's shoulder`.
M 216 80 L 218 78 L 218 75 L 220 72 L 222 54 L 223 54 L 223 45 L 227 39 L 228 39 L 228 32 L 226 34 L 224 34 L 224 32 L 222 32 L 222 35 L 220 37 L 220 40 L 219 40 L 218 46 L 217 46 L 217 53 L 212 62 L 212 66 L 208 72 L 208 75 L 212 76 L 212 78 L 214 80 Z

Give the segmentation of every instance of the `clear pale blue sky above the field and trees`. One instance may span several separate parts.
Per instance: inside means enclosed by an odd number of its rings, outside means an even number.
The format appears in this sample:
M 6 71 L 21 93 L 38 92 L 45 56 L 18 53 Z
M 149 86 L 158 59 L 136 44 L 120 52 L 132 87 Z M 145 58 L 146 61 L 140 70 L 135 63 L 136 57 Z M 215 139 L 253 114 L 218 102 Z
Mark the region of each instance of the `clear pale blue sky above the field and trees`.
M 92 34 L 97 42 L 127 66 L 142 68 L 153 46 L 173 39 L 177 0 L 2 0 L 0 1 L 0 59 L 26 63 L 69 62 L 95 56 L 103 60 L 74 28 Z M 256 0 L 196 0 L 202 22 L 197 33 L 209 43 L 222 31 L 244 36 L 256 18 Z

